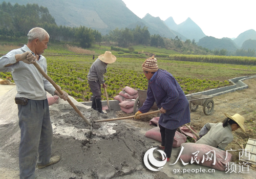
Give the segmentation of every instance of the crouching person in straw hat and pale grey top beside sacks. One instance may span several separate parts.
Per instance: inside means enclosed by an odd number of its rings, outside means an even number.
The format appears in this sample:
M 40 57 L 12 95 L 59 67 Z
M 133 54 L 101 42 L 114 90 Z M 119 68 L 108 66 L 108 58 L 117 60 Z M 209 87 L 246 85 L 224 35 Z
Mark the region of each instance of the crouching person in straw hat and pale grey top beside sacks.
M 224 115 L 227 118 L 225 118 L 223 122 L 205 124 L 204 127 L 207 133 L 201 133 L 203 137 L 196 142 L 197 144 L 206 144 L 224 150 L 226 146 L 233 141 L 232 131 L 241 128 L 245 132 L 244 117 L 239 114 L 230 116 L 224 113 Z M 202 132 L 202 129 L 200 132 Z

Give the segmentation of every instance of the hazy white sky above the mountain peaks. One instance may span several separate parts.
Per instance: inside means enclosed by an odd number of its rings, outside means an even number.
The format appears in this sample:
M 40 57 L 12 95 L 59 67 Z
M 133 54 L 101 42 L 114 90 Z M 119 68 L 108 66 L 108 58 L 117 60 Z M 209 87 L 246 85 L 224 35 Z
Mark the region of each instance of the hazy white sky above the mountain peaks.
M 122 0 L 138 17 L 147 13 L 166 20 L 173 17 L 181 24 L 190 17 L 206 36 L 236 38 L 256 31 L 255 0 Z

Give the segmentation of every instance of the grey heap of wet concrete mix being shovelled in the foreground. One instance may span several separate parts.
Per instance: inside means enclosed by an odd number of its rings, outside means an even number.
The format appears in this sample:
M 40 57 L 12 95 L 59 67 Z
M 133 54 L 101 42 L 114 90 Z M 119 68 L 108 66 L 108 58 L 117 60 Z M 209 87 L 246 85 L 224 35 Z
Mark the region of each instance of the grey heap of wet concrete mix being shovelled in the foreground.
M 12 108 L 13 111 L 4 114 L 9 120 L 0 119 L 0 150 L 15 158 L 13 168 L 17 169 L 20 130 L 17 109 L 13 107 L 16 105 L 13 104 L 16 92 L 13 90 L 8 93 L 12 94 L 6 96 L 4 101 L 11 101 L 11 104 L 2 104 L 2 107 Z M 75 100 L 72 101 L 89 121 L 109 118 L 107 115 L 86 108 Z M 1 111 L 3 115 L 5 110 L 2 108 Z M 61 160 L 45 169 L 36 169 L 37 175 L 69 179 L 123 178 L 125 176 L 129 178 L 133 174 L 137 177 L 138 172 L 145 170 L 143 154 L 153 144 L 146 142 L 144 133 L 140 132 L 139 128 L 136 129 L 124 121 L 95 123 L 92 139 L 89 139 L 90 126 L 67 102 L 60 100 L 59 104 L 50 106 L 50 114 L 54 137 L 52 154 L 60 155 Z M 153 177 L 147 174 L 141 176 Z

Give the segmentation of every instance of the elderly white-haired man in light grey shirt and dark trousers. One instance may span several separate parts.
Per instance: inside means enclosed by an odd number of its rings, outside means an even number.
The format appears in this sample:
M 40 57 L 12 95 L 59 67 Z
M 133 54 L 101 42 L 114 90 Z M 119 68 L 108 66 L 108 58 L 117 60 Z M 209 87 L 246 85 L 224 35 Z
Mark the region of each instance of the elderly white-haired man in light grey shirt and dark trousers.
M 0 72 L 12 72 L 17 88 L 20 179 L 43 178 L 35 176 L 36 163 L 38 168 L 44 168 L 60 159 L 59 156 L 51 158 L 53 133 L 46 91 L 64 100 L 68 94 L 62 91 L 60 95 L 33 65 L 38 63 L 47 73 L 46 58 L 41 54 L 48 42 L 49 34 L 44 29 L 33 28 L 28 33 L 27 45 L 0 58 Z

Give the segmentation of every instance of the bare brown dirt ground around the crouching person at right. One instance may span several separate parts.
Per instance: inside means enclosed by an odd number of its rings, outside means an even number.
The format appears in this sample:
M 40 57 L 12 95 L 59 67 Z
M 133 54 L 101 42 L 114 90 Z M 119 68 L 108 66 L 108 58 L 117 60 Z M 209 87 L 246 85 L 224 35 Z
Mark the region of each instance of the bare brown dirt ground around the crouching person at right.
M 238 151 L 241 151 L 239 149 L 245 148 L 248 138 L 256 139 L 256 78 L 244 80 L 243 82 L 248 85 L 247 89 L 214 97 L 214 111 L 212 111 L 209 116 L 206 116 L 203 113 L 203 108 L 201 106 L 199 106 L 196 111 L 190 111 L 190 126 L 197 132 L 199 132 L 204 124 L 208 122 L 222 122 L 226 118 L 224 113 L 231 116 L 238 113 L 245 118 L 244 126 L 246 132 L 244 133 L 242 129 L 234 131 L 234 140 L 226 147 L 226 149 L 231 148 L 232 150 L 237 150 L 236 152 L 230 152 L 232 154 L 231 162 L 239 162 Z M 118 116 L 123 117 L 129 115 L 120 112 Z M 148 121 L 156 116 L 157 115 L 144 116 L 141 117 L 140 120 L 144 121 L 145 125 L 148 125 Z M 252 165 L 252 169 L 256 170 L 256 166 Z

